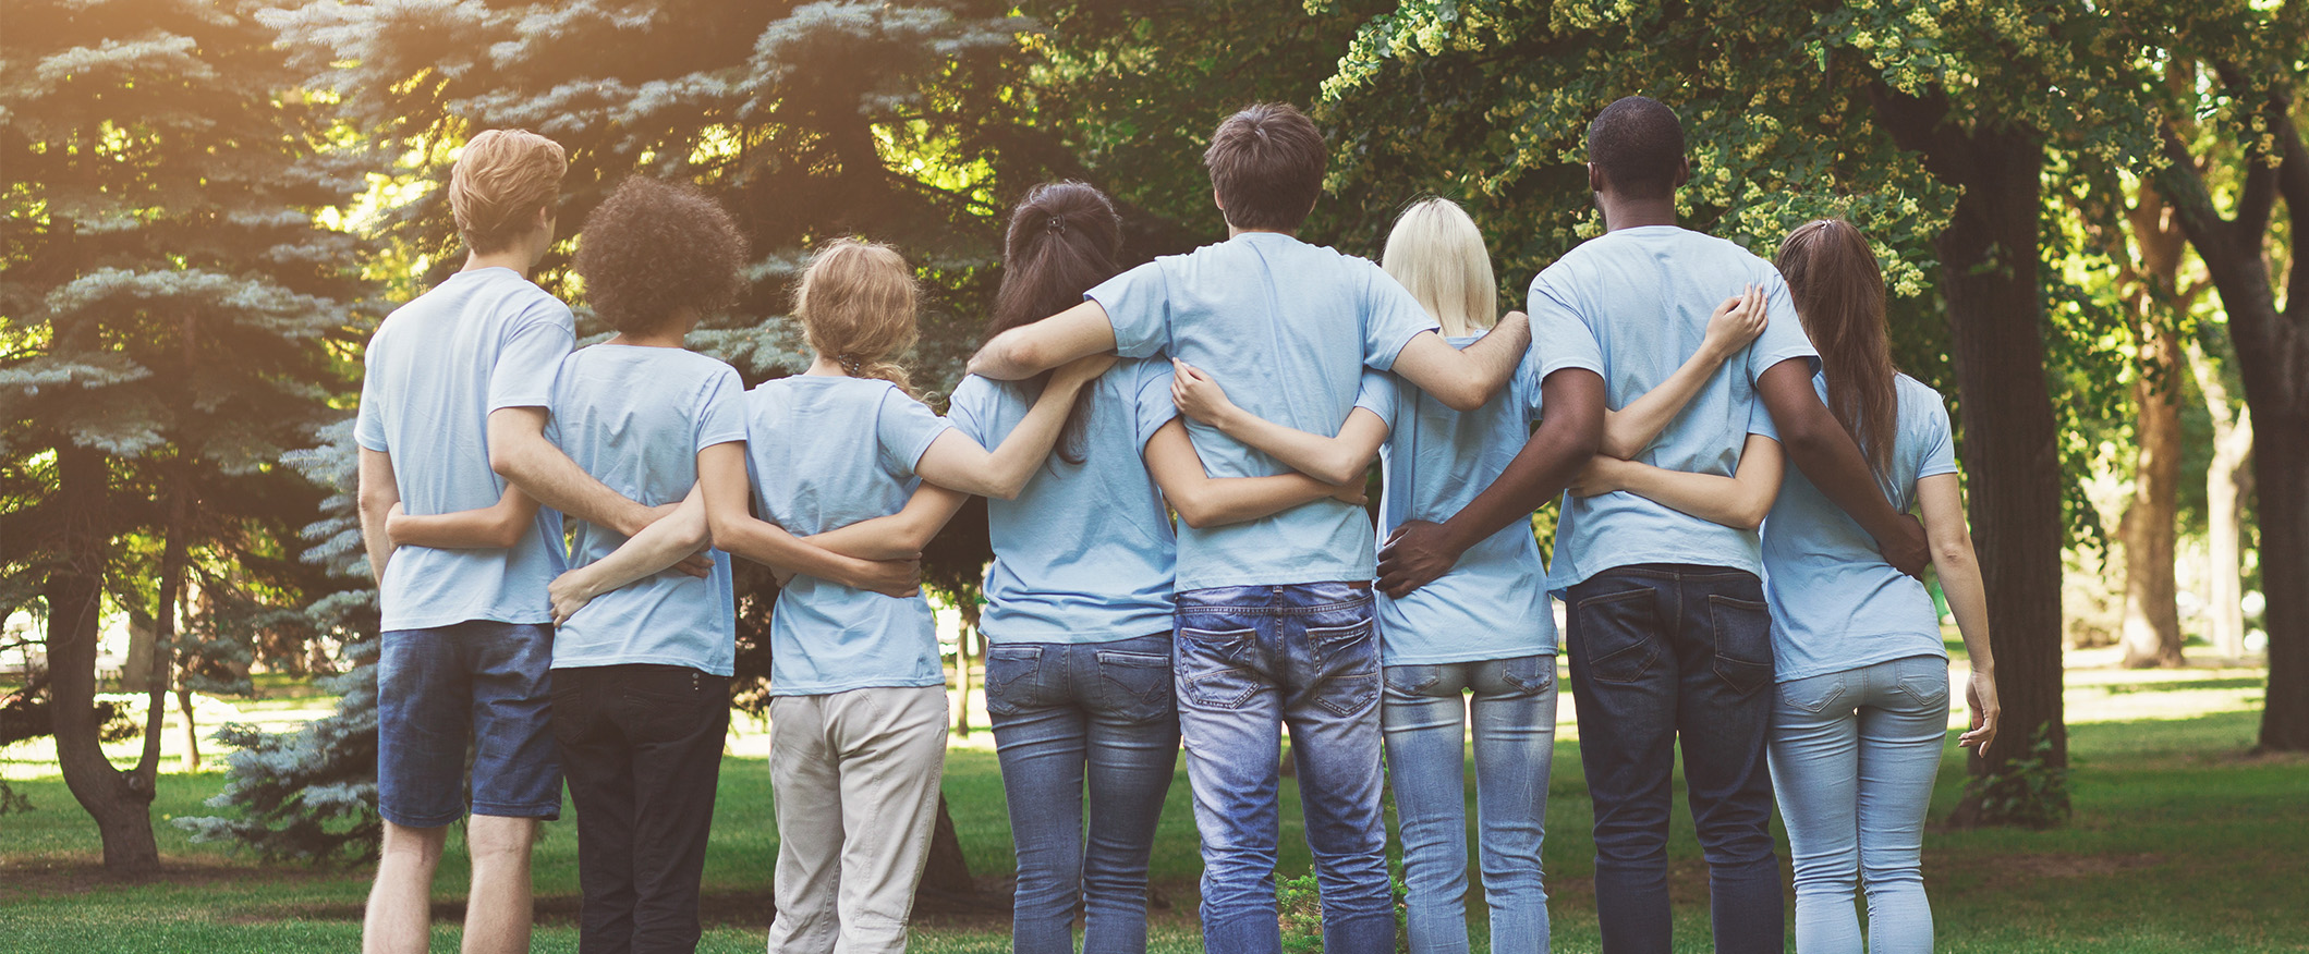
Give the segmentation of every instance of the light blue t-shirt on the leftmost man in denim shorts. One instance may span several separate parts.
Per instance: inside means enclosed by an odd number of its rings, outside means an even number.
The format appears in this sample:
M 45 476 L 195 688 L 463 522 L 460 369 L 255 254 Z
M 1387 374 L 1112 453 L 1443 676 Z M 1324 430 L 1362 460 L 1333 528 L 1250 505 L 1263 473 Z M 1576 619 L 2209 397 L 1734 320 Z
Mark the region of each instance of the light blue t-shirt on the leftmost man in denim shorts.
M 490 411 L 550 407 L 554 372 L 575 344 L 568 305 L 510 268 L 450 275 L 393 310 L 369 337 L 353 439 L 393 455 L 402 510 L 478 510 L 506 497 L 490 469 Z M 561 575 L 561 515 L 510 550 L 399 547 L 376 582 L 381 628 L 466 619 L 550 624 L 545 584 Z

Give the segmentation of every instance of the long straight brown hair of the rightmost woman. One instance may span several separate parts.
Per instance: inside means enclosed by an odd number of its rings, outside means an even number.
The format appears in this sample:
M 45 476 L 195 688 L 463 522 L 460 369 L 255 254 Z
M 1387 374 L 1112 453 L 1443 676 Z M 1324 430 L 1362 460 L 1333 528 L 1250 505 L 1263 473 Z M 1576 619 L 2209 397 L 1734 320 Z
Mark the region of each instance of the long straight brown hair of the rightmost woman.
M 1796 319 L 1819 349 L 1829 413 L 1884 478 L 1900 404 L 1884 328 L 1884 273 L 1875 252 L 1852 222 L 1815 219 L 1787 233 L 1778 266 Z

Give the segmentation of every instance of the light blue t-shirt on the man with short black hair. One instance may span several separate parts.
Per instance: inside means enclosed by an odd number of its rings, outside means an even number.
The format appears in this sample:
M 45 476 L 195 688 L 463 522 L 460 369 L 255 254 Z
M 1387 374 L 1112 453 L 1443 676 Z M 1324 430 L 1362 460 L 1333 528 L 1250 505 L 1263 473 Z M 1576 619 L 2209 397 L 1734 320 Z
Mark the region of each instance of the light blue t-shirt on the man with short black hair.
M 1690 229 L 1619 229 L 1582 243 L 1531 280 L 1531 323 L 1584 323 L 1602 358 L 1605 400 L 1621 409 L 1658 388 L 1699 351 L 1709 314 L 1748 284 L 1764 289 L 1771 326 L 1725 360 L 1683 413 L 1635 457 L 1669 471 L 1732 476 L 1748 444 L 1755 379 L 1787 358 L 1806 358 L 1810 367 L 1819 367 L 1819 353 L 1796 323 L 1778 268 L 1734 243 Z M 1630 492 L 1563 494 L 1547 587 L 1561 596 L 1596 573 L 1632 564 L 1764 571 L 1755 531 L 1676 513 Z

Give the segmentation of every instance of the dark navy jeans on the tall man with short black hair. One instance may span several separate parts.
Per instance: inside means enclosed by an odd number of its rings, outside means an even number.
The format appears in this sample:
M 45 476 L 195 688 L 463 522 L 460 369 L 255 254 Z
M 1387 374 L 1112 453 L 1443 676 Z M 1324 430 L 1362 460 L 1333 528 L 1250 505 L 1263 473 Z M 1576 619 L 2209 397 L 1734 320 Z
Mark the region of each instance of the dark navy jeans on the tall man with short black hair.
M 1579 762 L 1596 797 L 1596 915 L 1607 954 L 1665 954 L 1676 744 L 1709 859 L 1718 954 L 1778 954 L 1771 845 L 1771 614 L 1748 571 L 1616 566 L 1570 587 Z

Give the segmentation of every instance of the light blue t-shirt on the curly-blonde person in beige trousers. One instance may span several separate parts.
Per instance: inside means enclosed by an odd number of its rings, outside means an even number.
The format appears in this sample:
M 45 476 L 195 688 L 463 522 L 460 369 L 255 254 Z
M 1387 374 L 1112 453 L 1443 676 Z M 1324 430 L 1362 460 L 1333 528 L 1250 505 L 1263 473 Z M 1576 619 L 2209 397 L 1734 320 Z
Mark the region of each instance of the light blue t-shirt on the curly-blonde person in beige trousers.
M 762 520 L 824 534 L 905 508 L 914 464 L 947 432 L 898 386 L 794 374 L 746 393 L 746 469 Z M 827 695 L 868 686 L 944 686 L 937 619 L 898 598 L 797 575 L 769 617 L 769 693 Z

